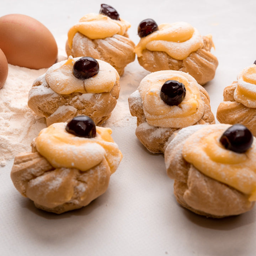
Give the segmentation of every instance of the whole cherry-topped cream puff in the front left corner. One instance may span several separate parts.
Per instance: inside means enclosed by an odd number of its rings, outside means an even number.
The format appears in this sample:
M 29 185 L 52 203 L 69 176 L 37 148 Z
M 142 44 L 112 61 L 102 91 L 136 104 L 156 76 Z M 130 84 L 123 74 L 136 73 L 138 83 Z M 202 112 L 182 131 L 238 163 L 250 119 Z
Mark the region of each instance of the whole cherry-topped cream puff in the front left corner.
M 32 152 L 15 157 L 14 186 L 48 212 L 86 206 L 107 190 L 122 159 L 111 132 L 87 116 L 44 128 L 32 141 Z

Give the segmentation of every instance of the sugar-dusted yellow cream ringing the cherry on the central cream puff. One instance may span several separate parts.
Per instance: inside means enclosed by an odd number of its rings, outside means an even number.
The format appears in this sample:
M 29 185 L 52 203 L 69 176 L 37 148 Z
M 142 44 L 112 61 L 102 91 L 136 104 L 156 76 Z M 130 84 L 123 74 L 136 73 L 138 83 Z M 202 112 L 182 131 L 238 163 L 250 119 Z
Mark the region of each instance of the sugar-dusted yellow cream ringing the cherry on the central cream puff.
M 167 80 L 185 85 L 186 96 L 177 106 L 167 105 L 160 97 L 161 87 Z M 140 82 L 138 91 L 146 121 L 152 126 L 183 128 L 195 124 L 204 114 L 204 102 L 197 81 L 182 71 L 153 72 Z

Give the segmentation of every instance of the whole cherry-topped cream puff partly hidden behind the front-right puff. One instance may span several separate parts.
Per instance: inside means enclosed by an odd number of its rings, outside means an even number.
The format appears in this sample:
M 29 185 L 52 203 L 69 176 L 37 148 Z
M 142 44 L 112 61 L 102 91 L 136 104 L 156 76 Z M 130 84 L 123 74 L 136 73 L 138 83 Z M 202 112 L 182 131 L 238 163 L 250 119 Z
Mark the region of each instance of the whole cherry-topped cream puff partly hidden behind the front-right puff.
M 207 91 L 182 71 L 145 76 L 128 101 L 130 113 L 137 117 L 135 134 L 151 153 L 164 153 L 171 135 L 183 127 L 215 123 Z

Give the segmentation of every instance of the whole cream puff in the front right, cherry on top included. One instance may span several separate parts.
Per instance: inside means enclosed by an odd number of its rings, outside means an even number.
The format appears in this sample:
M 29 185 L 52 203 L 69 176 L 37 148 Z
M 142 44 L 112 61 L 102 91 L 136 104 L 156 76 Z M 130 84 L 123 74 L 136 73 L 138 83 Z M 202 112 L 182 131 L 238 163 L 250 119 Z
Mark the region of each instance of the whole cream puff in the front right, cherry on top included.
M 177 202 L 214 218 L 251 210 L 256 201 L 255 154 L 255 138 L 242 125 L 181 129 L 164 154 Z

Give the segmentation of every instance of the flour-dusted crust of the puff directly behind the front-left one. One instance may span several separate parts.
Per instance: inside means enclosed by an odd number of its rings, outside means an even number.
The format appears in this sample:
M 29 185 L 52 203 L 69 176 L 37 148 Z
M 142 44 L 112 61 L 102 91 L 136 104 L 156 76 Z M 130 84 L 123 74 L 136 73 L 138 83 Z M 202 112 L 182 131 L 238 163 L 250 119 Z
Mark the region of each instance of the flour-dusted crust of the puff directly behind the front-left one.
M 69 122 L 80 114 L 89 116 L 96 125 L 99 125 L 111 116 L 119 91 L 120 85 L 117 79 L 110 92 L 58 94 L 50 88 L 44 74 L 33 83 L 28 94 L 28 107 L 39 116 L 45 117 L 47 126 L 58 122 Z

